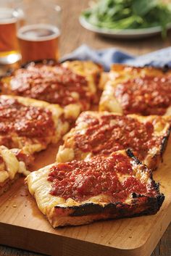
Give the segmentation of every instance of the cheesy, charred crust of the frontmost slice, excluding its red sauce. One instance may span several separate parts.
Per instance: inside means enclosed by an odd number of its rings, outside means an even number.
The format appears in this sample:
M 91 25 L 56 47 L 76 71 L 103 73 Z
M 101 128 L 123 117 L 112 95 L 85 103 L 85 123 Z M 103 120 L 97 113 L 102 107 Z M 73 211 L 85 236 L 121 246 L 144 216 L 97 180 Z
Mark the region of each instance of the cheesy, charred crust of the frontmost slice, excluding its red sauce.
M 144 186 L 148 187 L 149 192 L 138 193 L 137 190 L 136 193 L 133 192 L 135 190 L 132 183 L 129 185 L 130 191 L 128 192 L 128 196 L 126 196 L 124 200 L 114 199 L 114 194 L 111 197 L 108 194 L 104 194 L 104 192 L 100 192 L 100 194 L 97 194 L 96 196 L 91 195 L 91 197 L 86 197 L 86 199 L 83 200 L 76 199 L 80 196 L 77 189 L 74 189 L 72 191 L 72 196 L 68 198 L 65 194 L 62 194 L 61 196 L 59 196 L 59 194 L 51 194 L 54 186 L 51 185 L 51 181 L 48 181 L 51 168 L 58 168 L 57 166 L 59 166 L 60 170 L 62 170 L 62 164 L 49 165 L 41 170 L 30 173 L 26 178 L 28 189 L 30 194 L 35 197 L 39 209 L 46 215 L 51 226 L 54 228 L 66 225 L 77 226 L 91 223 L 94 220 L 151 215 L 159 210 L 164 201 L 164 195 L 159 193 L 159 184 L 155 183 L 152 179 L 151 171 L 145 165 L 142 165 L 129 149 L 126 152 L 115 152 L 105 159 L 108 161 L 110 157 L 115 157 L 117 154 L 125 156 L 125 159 L 130 162 L 133 168 L 133 173 L 127 175 L 123 175 L 119 170 L 114 169 L 114 173 L 117 171 L 117 176 L 119 175 L 120 177 L 120 182 L 124 184 L 129 177 L 133 177 L 137 182 L 140 181 L 143 185 L 145 184 Z M 86 160 L 86 162 L 84 160 L 78 161 L 78 165 L 84 165 L 84 163 L 86 165 L 91 165 L 91 162 L 94 161 L 94 159 L 95 158 L 93 157 Z M 103 159 L 104 158 L 102 157 L 101 160 Z M 67 162 L 67 165 L 72 166 L 72 164 L 77 164 L 77 161 Z M 65 164 L 63 165 L 65 166 Z M 106 165 L 106 168 L 107 166 L 108 165 Z M 76 173 L 75 177 L 78 177 Z M 98 184 L 98 181 L 96 181 L 96 184 Z M 70 183 L 68 183 L 68 186 L 69 185 Z M 79 185 L 80 183 L 78 186 Z M 92 186 L 91 189 L 93 189 Z M 124 191 L 125 190 L 123 190 L 123 192 Z M 60 192 L 58 191 L 58 193 Z M 82 198 L 82 196 L 80 198 Z

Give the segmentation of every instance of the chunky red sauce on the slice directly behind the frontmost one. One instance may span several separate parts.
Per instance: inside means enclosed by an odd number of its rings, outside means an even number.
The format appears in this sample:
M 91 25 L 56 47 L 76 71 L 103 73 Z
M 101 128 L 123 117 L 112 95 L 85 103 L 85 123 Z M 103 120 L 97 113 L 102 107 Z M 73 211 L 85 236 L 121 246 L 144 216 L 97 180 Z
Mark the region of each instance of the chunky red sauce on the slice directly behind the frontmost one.
M 132 149 L 143 160 L 153 146 L 159 146 L 162 139 L 154 136 L 152 123 L 140 123 L 128 116 L 101 115 L 93 117 L 88 114 L 80 116 L 88 123 L 86 133 L 75 134 L 75 147 L 82 152 L 93 154 L 111 154 L 117 150 Z

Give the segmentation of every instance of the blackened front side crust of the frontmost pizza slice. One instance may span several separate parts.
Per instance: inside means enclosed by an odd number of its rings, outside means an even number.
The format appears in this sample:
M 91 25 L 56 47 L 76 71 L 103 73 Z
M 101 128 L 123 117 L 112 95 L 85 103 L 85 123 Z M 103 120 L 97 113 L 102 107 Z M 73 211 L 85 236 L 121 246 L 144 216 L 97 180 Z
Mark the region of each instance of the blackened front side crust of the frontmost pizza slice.
M 49 221 L 54 227 L 56 227 L 56 225 L 78 226 L 92 223 L 96 220 L 133 218 L 141 215 L 153 215 L 157 213 L 163 200 L 163 195 L 159 195 L 156 198 L 149 197 L 146 200 L 139 197 L 133 201 L 133 205 L 111 203 L 105 207 L 102 207 L 93 203 L 88 203 L 73 207 L 54 207 L 54 209 L 49 212 Z

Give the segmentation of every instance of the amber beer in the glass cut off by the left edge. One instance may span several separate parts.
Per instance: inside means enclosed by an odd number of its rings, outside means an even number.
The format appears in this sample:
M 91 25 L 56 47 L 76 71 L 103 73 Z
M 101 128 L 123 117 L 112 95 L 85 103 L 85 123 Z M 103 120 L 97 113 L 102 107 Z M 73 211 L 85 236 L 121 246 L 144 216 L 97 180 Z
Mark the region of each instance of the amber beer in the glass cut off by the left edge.
M 16 18 L 10 8 L 0 8 L 0 58 L 18 53 Z

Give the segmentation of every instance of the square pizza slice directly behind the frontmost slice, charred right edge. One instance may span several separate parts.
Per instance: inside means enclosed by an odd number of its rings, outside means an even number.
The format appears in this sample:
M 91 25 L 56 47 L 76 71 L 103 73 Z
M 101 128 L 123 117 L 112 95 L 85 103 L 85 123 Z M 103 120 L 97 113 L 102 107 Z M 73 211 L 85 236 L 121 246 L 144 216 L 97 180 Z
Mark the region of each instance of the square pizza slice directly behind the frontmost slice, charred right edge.
M 138 159 L 154 170 L 167 145 L 170 120 L 168 116 L 83 112 L 75 128 L 64 136 L 57 161 L 82 160 L 87 156 L 109 155 L 130 148 Z

